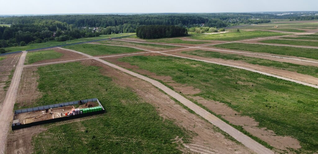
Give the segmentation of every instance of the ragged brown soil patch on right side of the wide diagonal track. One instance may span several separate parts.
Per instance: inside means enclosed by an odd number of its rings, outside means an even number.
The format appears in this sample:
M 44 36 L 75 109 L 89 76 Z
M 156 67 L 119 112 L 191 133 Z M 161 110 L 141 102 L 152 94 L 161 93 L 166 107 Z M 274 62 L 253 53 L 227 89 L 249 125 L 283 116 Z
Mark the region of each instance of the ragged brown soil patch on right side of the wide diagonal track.
M 299 149 L 301 148 L 299 141 L 290 136 L 278 136 L 272 130 L 258 127 L 252 117 L 242 116 L 239 112 L 236 112 L 232 108 L 228 107 L 224 103 L 218 101 L 205 100 L 200 96 L 189 96 L 192 99 L 197 100 L 200 104 L 209 108 L 214 113 L 221 115 L 225 120 L 232 124 L 242 126 L 245 130 L 250 132 L 253 136 L 257 136 L 265 142 L 269 143 L 273 147 L 280 150 L 288 150 L 289 148 Z

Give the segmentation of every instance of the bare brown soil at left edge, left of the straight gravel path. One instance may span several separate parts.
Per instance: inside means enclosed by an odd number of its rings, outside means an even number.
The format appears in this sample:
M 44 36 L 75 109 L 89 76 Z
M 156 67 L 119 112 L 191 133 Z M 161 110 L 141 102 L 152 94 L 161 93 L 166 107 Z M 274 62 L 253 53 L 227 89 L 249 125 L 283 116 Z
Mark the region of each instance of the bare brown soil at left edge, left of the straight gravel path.
M 8 88 L 6 82 L 11 80 L 9 78 L 11 70 L 16 68 L 20 55 L 21 53 L 14 53 L 1 56 L 6 58 L 4 60 L 0 60 L 0 105 L 4 101 L 6 90 Z

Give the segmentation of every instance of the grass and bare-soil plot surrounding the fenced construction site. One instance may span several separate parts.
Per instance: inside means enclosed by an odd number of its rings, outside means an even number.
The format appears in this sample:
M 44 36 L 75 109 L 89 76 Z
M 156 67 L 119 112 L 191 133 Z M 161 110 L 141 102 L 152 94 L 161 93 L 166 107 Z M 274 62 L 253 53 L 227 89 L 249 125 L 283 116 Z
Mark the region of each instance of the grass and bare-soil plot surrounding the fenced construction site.
M 52 72 L 49 71 L 58 69 L 69 69 L 73 73 L 51 76 Z M 107 108 L 107 113 L 88 120 L 58 125 L 59 127 L 49 125 L 48 128 L 37 129 L 40 134 L 33 139 L 34 152 L 45 150 L 58 153 L 57 151 L 64 151 L 66 145 L 73 146 L 72 152 L 79 153 L 83 151 L 96 153 L 101 151 L 118 153 L 189 151 L 189 149 L 178 148 L 183 145 L 196 150 L 213 149 L 212 151 L 222 151 L 222 153 L 234 151 L 251 153 L 245 147 L 222 135 L 211 123 L 190 114 L 149 83 L 93 60 L 37 67 L 35 73 L 38 74 L 39 79 L 34 80 L 38 81 L 37 87 L 42 96 L 34 101 L 33 106 L 93 96 L 99 98 L 104 108 Z M 83 77 L 85 83 L 81 82 Z M 74 127 L 76 129 L 73 129 Z M 19 131 L 11 133 L 10 136 L 16 136 L 16 133 L 18 134 Z M 26 147 L 29 143 L 24 143 L 31 141 L 26 138 L 9 138 L 8 151 L 15 149 L 13 146 L 19 147 L 18 150 L 32 151 Z M 72 140 L 74 144 L 61 143 L 59 142 L 61 140 Z M 118 144 L 124 148 L 117 148 Z

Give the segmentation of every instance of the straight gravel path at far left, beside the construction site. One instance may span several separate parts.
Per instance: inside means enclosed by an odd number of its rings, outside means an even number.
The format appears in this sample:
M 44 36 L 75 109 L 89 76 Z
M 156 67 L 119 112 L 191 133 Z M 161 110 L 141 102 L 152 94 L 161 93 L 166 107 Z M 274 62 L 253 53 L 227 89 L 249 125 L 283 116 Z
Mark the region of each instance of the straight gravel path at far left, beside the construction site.
M 21 79 L 25 55 L 26 55 L 26 52 L 24 51 L 21 54 L 16 70 L 14 71 L 10 87 L 7 91 L 6 97 L 2 104 L 2 110 L 0 112 L 0 126 L 1 126 L 0 127 L 0 143 L 1 143 L 0 153 L 4 153 L 4 149 L 6 146 L 7 133 L 9 130 L 9 126 L 11 126 L 10 117 L 12 116 L 10 115 L 13 115 L 12 110 L 13 110 L 14 103 L 16 101 L 17 90 L 19 87 L 20 79 Z

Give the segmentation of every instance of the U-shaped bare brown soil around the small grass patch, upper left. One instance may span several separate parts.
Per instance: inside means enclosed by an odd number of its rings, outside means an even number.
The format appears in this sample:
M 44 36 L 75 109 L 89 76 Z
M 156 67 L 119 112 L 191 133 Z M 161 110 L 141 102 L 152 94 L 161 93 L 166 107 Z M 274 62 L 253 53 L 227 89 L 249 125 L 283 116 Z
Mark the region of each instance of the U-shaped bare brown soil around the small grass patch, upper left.
M 41 60 L 41 61 L 35 62 L 33 64 L 43 64 L 43 63 L 50 63 L 50 62 L 58 62 L 58 61 L 65 61 L 65 60 L 77 60 L 77 59 L 87 58 L 84 55 L 74 53 L 71 51 L 67 51 L 67 50 L 63 50 L 60 48 L 50 48 L 50 49 L 45 49 L 45 50 L 54 50 L 58 53 L 62 53 L 63 56 L 60 58 L 57 58 L 57 59 Z M 45 50 L 37 50 L 37 51 L 45 51 Z M 36 51 L 34 51 L 34 52 L 36 52 Z

